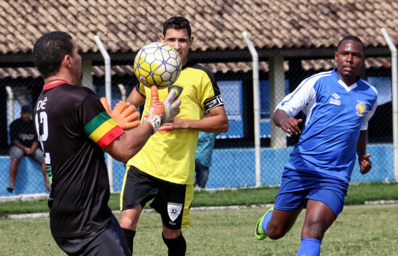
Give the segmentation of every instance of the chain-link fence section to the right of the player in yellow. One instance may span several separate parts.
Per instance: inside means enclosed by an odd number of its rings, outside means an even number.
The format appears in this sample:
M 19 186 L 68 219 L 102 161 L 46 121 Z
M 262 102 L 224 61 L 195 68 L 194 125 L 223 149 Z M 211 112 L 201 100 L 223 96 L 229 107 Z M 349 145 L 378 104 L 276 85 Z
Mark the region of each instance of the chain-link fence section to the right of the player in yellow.
M 254 186 L 252 64 L 231 60 L 230 63 L 204 65 L 216 74 L 230 122 L 229 131 L 217 138 L 207 187 Z M 299 139 L 299 136 L 288 136 L 273 125 L 270 118 L 275 106 L 305 78 L 330 71 L 335 65 L 334 56 L 270 57 L 259 60 L 261 185 L 280 183 L 283 167 Z M 354 183 L 394 179 L 390 65 L 390 57 L 372 56 L 366 59 L 365 67 L 361 70 L 361 77 L 378 90 L 378 108 L 368 128 L 367 152 L 372 155 L 373 169 L 362 175 L 356 164 L 351 177 Z M 279 71 L 283 69 L 283 72 L 278 72 L 278 68 Z M 296 118 L 301 117 L 300 113 Z M 274 138 L 271 134 L 275 134 Z

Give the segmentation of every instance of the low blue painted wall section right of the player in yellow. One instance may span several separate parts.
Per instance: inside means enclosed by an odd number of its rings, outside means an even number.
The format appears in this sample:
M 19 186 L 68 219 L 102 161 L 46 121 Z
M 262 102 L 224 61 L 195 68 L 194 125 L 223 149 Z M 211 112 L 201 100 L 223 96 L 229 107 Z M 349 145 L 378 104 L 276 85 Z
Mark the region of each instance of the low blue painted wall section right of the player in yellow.
M 283 167 L 289 160 L 293 147 L 274 150 L 261 148 L 261 184 L 277 185 L 281 182 Z M 372 170 L 366 175 L 359 172 L 356 164 L 351 183 L 394 180 L 392 144 L 369 144 Z M 336 154 L 339 154 L 336 152 Z M 254 149 L 228 149 L 213 152 L 213 166 L 210 167 L 206 188 L 242 187 L 256 185 Z

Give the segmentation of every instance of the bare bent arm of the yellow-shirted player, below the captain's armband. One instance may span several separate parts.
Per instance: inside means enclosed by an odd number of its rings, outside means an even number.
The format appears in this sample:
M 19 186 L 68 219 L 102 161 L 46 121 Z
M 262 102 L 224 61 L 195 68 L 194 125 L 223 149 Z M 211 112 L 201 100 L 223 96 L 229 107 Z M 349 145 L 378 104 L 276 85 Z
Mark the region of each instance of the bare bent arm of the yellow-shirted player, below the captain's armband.
M 159 130 L 191 129 L 201 132 L 227 132 L 229 124 L 224 106 L 212 108 L 209 113 L 209 117 L 201 120 L 182 119 L 176 116 L 173 122 L 162 125 Z

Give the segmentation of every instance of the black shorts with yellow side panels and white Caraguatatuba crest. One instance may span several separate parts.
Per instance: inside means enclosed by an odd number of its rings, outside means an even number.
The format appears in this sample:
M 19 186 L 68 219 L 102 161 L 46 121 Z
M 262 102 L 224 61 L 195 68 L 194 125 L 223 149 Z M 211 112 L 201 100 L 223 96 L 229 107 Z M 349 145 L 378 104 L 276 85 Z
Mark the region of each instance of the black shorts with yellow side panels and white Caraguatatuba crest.
M 170 229 L 189 227 L 189 207 L 193 198 L 193 185 L 177 184 L 158 179 L 134 166 L 127 169 L 120 194 L 120 210 L 150 203 Z

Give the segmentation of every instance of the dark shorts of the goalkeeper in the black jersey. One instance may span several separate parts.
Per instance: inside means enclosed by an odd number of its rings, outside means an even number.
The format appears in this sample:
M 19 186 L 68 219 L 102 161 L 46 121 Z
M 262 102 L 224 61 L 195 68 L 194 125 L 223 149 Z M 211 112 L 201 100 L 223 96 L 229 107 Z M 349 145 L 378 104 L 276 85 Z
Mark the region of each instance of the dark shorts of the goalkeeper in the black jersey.
M 54 237 L 68 255 L 126 255 L 131 256 L 127 240 L 115 216 L 105 228 L 77 237 Z

